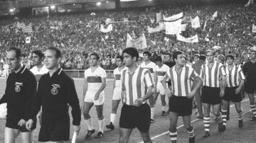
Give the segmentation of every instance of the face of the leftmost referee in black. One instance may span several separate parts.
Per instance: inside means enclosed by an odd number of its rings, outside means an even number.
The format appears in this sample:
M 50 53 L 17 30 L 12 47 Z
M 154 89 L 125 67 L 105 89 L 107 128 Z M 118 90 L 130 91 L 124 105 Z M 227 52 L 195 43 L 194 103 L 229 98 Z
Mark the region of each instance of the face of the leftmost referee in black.
M 11 70 L 16 71 L 19 67 L 21 67 L 21 57 L 17 59 L 16 52 L 14 50 L 7 52 L 6 62 Z

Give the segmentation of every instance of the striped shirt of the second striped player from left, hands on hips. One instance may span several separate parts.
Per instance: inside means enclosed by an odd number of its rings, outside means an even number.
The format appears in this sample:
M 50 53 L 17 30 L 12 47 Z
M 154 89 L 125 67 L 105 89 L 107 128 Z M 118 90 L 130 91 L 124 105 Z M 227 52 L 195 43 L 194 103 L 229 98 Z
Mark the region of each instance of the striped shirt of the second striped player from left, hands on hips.
M 171 79 L 171 92 L 174 96 L 187 96 L 191 92 L 192 80 L 196 79 L 198 74 L 191 66 L 184 66 L 180 73 L 171 67 L 166 74 L 166 79 Z

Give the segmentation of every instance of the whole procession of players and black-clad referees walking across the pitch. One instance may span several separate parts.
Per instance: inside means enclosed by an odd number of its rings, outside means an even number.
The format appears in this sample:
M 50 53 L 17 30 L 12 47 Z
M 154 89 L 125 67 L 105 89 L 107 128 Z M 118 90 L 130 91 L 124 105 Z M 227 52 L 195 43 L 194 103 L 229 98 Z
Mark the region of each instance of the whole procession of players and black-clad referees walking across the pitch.
M 251 52 L 250 65 L 245 64 L 246 75 L 255 70 L 255 51 Z M 207 64 L 201 66 L 199 74 L 186 63 L 183 52 L 174 52 L 175 66 L 169 68 L 163 64 L 161 57 L 156 57 L 156 64 L 150 62 L 150 52 L 144 52 L 144 62 L 137 64 L 139 53 L 135 48 L 127 48 L 123 51 L 123 57 L 117 57 L 117 69 L 114 69 L 114 88 L 112 113 L 110 125 L 107 128 L 114 130 L 114 120 L 117 107 L 122 100 L 124 103 L 119 119 L 119 142 L 128 142 L 129 135 L 134 127 L 137 127 L 144 142 L 152 142 L 149 137 L 150 123 L 154 122 L 154 104 L 157 95 L 161 94 L 162 114 L 166 115 L 166 102 L 164 95 L 169 96 L 170 137 L 176 142 L 176 123 L 178 116 L 183 117 L 184 126 L 188 130 L 189 142 L 195 141 L 193 126 L 191 125 L 191 113 L 193 96 L 200 96 L 199 88 L 203 84 L 201 100 L 204 108 L 203 137 L 209 137 L 210 105 L 213 105 L 213 114 L 219 122 L 218 130 L 225 130 L 225 118 L 227 106 L 230 100 L 235 102 L 238 111 L 239 127 L 242 127 L 242 110 L 240 91 L 244 84 L 245 76 L 239 67 L 235 67 L 233 55 L 228 55 L 227 66 L 214 61 L 214 52 L 206 52 Z M 171 55 L 169 55 L 171 57 Z M 254 58 L 253 58 L 254 56 Z M 68 116 L 68 104 L 73 108 L 73 126 L 76 132 L 80 130 L 80 105 L 75 85 L 65 72 L 58 67 L 61 53 L 55 47 L 49 47 L 45 52 L 45 66 L 42 64 L 43 53 L 33 52 L 33 67 L 35 76 L 26 67 L 21 67 L 21 51 L 11 48 L 7 53 L 7 62 L 14 72 L 6 81 L 6 93 L 0 103 L 8 103 L 8 114 L 5 128 L 5 141 L 15 142 L 19 132 L 23 142 L 32 142 L 31 130 L 36 128 L 36 115 L 42 106 L 41 130 L 39 142 L 62 142 L 69 140 L 70 125 Z M 87 124 L 88 132 L 85 138 L 89 138 L 95 129 L 89 115 L 90 108 L 95 105 L 99 119 L 99 132 L 97 137 L 103 137 L 104 117 L 102 115 L 105 101 L 104 89 L 106 86 L 106 72 L 98 67 L 100 57 L 96 53 L 90 55 L 90 68 L 85 71 L 85 84 L 83 91 L 82 113 Z M 251 64 L 252 63 L 252 64 Z M 125 65 L 125 67 L 124 67 Z M 46 70 L 45 70 L 46 69 Z M 39 71 L 46 71 L 47 74 Z M 38 72 L 38 73 L 36 73 Z M 36 90 L 36 79 L 39 81 Z M 40 79 L 40 80 L 39 80 Z M 220 79 L 220 80 L 219 80 Z M 245 91 L 249 93 L 253 118 L 255 120 L 255 104 L 253 92 L 254 79 L 247 80 Z M 167 86 L 166 81 L 171 81 Z M 192 86 L 193 84 L 193 86 Z M 145 90 L 145 86 L 147 90 Z M 225 86 L 227 86 L 225 88 Z M 171 89 L 171 90 L 170 90 Z M 36 91 L 37 94 L 36 94 Z M 36 96 L 35 96 L 36 95 Z M 153 96 L 154 95 L 154 96 Z M 65 98 L 63 98 L 65 97 Z M 149 105 L 146 100 L 149 99 Z M 21 103 L 22 102 L 22 103 Z M 223 103 L 223 115 L 220 113 L 220 103 Z M 31 110 L 32 109 L 32 110 Z

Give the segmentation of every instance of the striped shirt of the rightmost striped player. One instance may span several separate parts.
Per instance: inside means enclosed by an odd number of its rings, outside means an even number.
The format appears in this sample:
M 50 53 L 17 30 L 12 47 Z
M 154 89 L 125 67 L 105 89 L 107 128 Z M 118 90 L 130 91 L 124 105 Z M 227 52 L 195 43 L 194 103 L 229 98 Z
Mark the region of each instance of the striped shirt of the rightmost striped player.
M 238 66 L 235 66 L 229 70 L 228 66 L 225 67 L 225 72 L 227 74 L 227 84 L 228 87 L 237 87 L 240 84 L 240 80 L 244 80 L 245 76 L 242 73 L 242 69 Z

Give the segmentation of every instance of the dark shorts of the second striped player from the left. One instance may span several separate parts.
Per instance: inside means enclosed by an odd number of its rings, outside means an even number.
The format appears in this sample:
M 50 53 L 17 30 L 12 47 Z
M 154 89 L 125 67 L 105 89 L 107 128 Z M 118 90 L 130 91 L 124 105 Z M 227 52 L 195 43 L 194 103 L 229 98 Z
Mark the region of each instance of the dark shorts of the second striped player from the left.
M 179 116 L 192 114 L 193 98 L 189 99 L 182 96 L 172 96 L 169 98 L 169 111 L 177 113 Z

